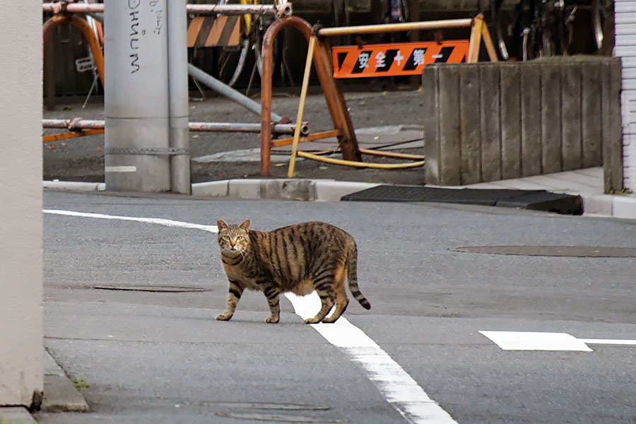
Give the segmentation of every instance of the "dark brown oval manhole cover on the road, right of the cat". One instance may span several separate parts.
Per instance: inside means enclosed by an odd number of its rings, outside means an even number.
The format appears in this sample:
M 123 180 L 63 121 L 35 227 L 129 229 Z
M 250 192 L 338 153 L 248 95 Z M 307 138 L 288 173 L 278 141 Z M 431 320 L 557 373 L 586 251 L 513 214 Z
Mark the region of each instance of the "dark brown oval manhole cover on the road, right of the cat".
M 591 247 L 591 246 L 466 246 L 451 249 L 454 252 L 519 254 L 547 257 L 596 257 L 635 258 L 635 247 Z

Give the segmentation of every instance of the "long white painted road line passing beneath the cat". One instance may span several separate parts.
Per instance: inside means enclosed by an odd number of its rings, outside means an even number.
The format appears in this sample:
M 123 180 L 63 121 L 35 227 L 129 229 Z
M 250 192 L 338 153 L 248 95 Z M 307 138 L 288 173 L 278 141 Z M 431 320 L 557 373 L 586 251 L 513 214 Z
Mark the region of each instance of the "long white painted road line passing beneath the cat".
M 166 225 L 168 227 L 195 228 L 197 230 L 218 232 L 216 225 L 199 225 L 162 218 L 134 218 L 131 216 L 52 209 L 45 209 L 44 213 L 83 218 L 131 220 L 141 223 Z M 287 293 L 286 296 L 292 302 L 296 314 L 302 319 L 313 317 L 320 309 L 320 299 L 315 292 L 302 298 L 293 293 Z M 418 385 L 413 377 L 404 371 L 404 368 L 396 363 L 388 353 L 384 352 L 364 331 L 348 322 L 345 317 L 340 317 L 335 324 L 311 324 L 311 326 L 326 341 L 341 348 L 353 362 L 360 365 L 367 372 L 367 377 L 379 389 L 382 396 L 409 423 L 457 423 L 437 402 L 428 397 L 424 389 Z

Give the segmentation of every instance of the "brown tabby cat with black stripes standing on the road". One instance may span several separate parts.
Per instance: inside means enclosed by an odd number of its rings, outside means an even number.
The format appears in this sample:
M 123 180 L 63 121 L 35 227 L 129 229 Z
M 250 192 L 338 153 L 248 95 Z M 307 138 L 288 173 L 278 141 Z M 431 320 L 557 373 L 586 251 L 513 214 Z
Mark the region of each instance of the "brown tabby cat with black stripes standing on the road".
M 316 290 L 322 308 L 307 324 L 335 322 L 349 303 L 345 277 L 351 294 L 367 310 L 369 301 L 358 288 L 358 248 L 353 237 L 326 223 L 301 223 L 269 232 L 249 230 L 249 220 L 240 225 L 217 221 L 218 244 L 223 268 L 230 281 L 228 307 L 216 319 L 232 318 L 243 290 L 261 290 L 271 310 L 265 322 L 278 322 L 278 295 L 293 292 L 308 295 Z M 334 313 L 326 317 L 336 303 Z

